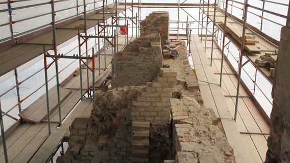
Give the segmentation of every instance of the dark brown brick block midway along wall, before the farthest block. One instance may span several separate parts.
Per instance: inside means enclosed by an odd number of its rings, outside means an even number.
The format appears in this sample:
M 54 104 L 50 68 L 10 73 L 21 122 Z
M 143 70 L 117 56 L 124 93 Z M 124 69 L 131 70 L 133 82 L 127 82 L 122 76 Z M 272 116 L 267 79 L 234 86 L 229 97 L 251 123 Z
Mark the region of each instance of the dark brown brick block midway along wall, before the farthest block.
M 141 36 L 117 53 L 116 63 L 112 59 L 112 86 L 115 83 L 118 87 L 146 85 L 157 76 L 162 66 L 160 36 Z

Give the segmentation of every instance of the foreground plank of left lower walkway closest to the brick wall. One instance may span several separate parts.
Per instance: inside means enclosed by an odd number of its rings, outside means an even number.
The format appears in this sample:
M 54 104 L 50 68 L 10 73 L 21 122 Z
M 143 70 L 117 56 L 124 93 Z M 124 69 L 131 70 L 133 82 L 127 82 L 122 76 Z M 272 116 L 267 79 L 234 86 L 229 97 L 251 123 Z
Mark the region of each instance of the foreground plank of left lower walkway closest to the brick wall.
M 45 142 L 41 145 L 41 147 L 37 150 L 37 152 L 29 162 L 46 162 L 50 158 L 54 150 L 57 148 L 59 143 L 62 141 L 66 131 L 67 130 L 55 129 L 51 133 L 49 138 L 47 138 Z

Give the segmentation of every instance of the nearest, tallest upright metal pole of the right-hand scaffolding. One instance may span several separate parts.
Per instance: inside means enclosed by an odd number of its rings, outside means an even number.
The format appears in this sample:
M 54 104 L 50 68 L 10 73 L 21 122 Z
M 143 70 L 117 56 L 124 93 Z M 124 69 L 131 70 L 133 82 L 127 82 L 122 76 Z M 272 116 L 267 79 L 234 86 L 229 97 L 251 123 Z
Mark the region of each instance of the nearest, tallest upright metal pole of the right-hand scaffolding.
M 243 17 L 243 19 L 244 19 L 244 22 L 243 22 L 243 35 L 242 35 L 242 38 L 241 38 L 240 56 L 239 56 L 239 65 L 238 65 L 238 79 L 237 79 L 237 91 L 236 91 L 236 103 L 235 103 L 235 115 L 234 115 L 234 120 L 235 121 L 236 121 L 236 117 L 237 117 L 239 88 L 240 88 L 240 76 L 241 76 L 241 69 L 243 67 L 243 55 L 244 55 L 245 42 L 246 42 L 247 15 L 248 15 L 248 0 L 245 0 L 244 17 Z

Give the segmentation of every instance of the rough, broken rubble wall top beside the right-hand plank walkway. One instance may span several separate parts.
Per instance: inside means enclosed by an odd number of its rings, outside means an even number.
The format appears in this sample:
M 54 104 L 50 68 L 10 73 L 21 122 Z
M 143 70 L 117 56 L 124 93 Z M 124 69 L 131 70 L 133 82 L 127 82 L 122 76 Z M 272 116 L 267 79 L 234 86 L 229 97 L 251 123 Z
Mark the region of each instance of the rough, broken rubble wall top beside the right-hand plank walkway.
M 177 83 L 171 98 L 173 145 L 176 162 L 235 162 L 233 149 L 218 126 L 211 108 L 201 106 L 199 84 L 190 68 L 186 50 L 176 60 L 164 60 L 177 71 Z

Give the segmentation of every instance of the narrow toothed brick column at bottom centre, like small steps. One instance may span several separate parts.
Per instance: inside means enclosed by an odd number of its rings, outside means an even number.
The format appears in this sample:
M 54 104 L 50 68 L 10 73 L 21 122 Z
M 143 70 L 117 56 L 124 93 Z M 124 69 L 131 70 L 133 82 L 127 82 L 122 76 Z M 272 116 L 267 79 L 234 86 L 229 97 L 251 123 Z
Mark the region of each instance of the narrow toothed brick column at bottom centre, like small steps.
M 132 121 L 131 162 L 149 162 L 149 122 Z

